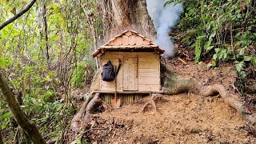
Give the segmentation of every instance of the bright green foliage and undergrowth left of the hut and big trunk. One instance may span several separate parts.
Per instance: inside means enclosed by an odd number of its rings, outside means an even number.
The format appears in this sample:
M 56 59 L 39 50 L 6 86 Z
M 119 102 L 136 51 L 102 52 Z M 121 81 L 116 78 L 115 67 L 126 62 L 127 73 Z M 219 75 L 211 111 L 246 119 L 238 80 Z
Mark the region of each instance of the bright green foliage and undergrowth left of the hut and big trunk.
M 0 23 L 29 2 L 1 1 Z M 89 24 L 94 24 L 94 34 L 102 34 L 97 4 L 94 0 L 38 1 L 26 14 L 0 31 L 0 69 L 5 72 L 14 95 L 22 92 L 22 110 L 37 123 L 46 140 L 64 138 L 63 130 L 74 114 L 74 102 L 68 95 L 70 86 L 83 88 L 84 81 L 94 73 Z M 50 59 L 46 57 L 46 46 Z M 62 102 L 61 94 L 69 99 Z M 4 140 L 14 143 L 10 130 L 13 116 L 3 99 L 0 99 L 0 106 Z M 23 143 L 27 142 L 26 138 L 22 139 Z

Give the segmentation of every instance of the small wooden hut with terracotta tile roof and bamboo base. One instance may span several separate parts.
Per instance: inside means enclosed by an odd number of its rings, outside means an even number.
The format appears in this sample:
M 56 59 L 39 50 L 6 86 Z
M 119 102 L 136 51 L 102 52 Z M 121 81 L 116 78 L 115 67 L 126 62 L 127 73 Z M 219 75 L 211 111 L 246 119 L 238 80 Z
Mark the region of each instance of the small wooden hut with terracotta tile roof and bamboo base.
M 116 68 L 121 62 L 115 80 L 105 82 L 101 78 L 97 92 L 106 102 L 118 98 L 121 104 L 133 102 L 142 94 L 158 92 L 161 90 L 160 55 L 163 53 L 158 45 L 134 30 L 118 34 L 92 54 L 98 58 L 100 70 L 109 60 Z

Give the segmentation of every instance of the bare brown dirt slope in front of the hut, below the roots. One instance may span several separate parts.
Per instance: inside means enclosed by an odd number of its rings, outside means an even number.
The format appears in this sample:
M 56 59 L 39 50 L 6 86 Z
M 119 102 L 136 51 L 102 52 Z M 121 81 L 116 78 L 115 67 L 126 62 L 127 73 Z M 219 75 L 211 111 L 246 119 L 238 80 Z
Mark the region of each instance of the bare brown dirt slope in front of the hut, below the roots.
M 169 102 L 157 103 L 156 115 L 150 110 L 141 114 L 139 102 L 94 114 L 90 122 L 92 130 L 84 136 L 98 143 L 253 142 L 246 122 L 221 98 L 194 94 L 166 98 Z

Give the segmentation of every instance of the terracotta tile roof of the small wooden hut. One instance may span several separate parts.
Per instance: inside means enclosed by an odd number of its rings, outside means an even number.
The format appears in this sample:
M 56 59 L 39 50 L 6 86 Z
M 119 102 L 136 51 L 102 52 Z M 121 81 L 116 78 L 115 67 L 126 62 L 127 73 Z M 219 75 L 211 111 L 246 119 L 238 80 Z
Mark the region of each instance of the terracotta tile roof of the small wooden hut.
M 102 53 L 104 50 L 158 50 L 160 54 L 163 54 L 165 50 L 159 48 L 154 42 L 147 39 L 142 34 L 138 34 L 134 30 L 126 30 L 121 34 L 118 34 L 104 45 L 99 46 L 98 49 L 92 54 L 93 57 Z

